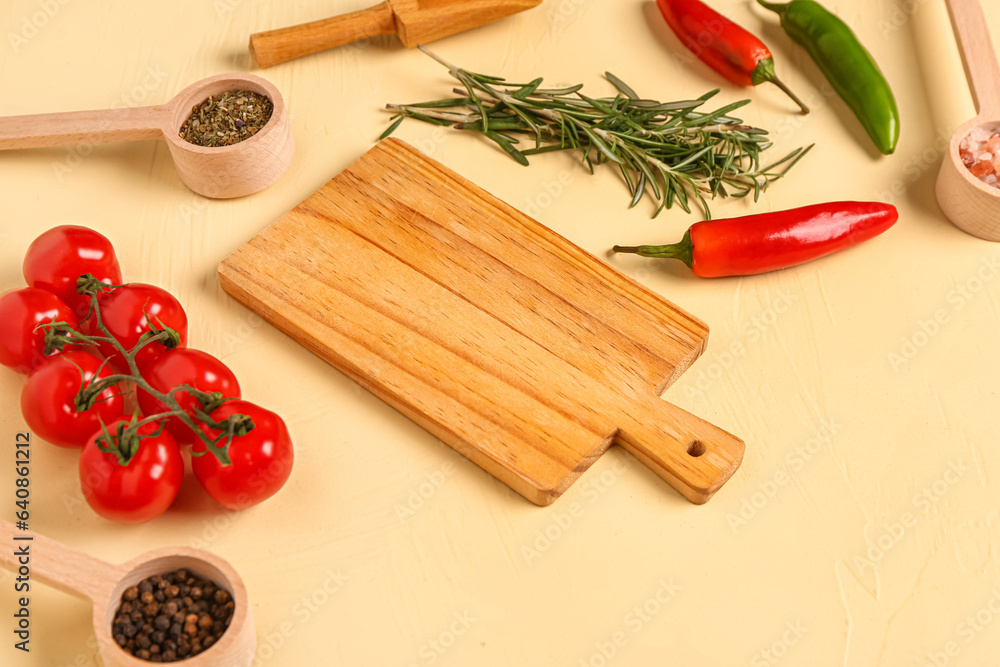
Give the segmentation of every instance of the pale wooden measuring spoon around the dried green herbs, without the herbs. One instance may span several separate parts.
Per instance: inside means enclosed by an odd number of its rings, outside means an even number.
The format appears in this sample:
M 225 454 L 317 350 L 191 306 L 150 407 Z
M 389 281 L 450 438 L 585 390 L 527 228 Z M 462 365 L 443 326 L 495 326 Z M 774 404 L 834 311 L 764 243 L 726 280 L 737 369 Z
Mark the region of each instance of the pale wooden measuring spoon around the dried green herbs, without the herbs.
M 227 90 L 249 90 L 274 103 L 267 124 L 231 146 L 207 148 L 179 136 L 191 108 Z M 0 150 L 162 139 L 184 185 L 205 197 L 229 199 L 263 190 L 292 163 L 295 143 L 281 93 L 252 74 L 202 79 L 160 106 L 73 111 L 0 118 Z

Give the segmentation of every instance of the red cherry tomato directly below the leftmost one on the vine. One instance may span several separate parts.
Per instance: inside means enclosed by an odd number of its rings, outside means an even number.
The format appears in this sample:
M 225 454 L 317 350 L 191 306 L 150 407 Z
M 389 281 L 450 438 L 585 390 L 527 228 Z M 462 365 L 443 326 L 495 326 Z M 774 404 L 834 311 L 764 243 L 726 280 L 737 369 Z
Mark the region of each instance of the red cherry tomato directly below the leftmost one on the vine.
M 31 430 L 53 445 L 83 447 L 101 421 L 107 424 L 121 417 L 124 399 L 117 386 L 101 392 L 89 410 L 76 410 L 74 399 L 81 385 L 77 366 L 89 382 L 100 365 L 101 360 L 89 352 L 66 350 L 39 366 L 21 390 L 21 412 Z M 105 367 L 97 377 L 109 375 L 111 370 Z

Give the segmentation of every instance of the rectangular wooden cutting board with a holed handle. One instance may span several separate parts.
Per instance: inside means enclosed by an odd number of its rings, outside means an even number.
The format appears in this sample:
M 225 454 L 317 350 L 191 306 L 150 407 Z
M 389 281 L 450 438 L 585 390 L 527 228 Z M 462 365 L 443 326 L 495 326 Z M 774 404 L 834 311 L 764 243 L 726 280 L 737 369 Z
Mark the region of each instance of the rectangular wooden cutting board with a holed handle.
M 695 503 L 743 442 L 658 398 L 708 328 L 387 139 L 219 266 L 223 288 L 539 505 L 611 444 Z

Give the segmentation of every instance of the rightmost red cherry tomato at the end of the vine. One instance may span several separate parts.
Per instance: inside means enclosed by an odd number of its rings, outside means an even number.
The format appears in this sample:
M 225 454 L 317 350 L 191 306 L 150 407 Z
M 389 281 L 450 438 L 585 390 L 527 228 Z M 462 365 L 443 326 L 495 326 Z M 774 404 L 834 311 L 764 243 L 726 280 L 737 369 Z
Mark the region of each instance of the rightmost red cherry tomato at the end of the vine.
M 233 436 L 229 443 L 231 465 L 224 466 L 201 440 L 191 449 L 191 467 L 195 477 L 224 507 L 246 509 L 267 500 L 284 486 L 292 473 L 292 439 L 281 417 L 249 401 L 226 401 L 211 417 L 223 421 L 229 415 L 244 414 L 253 419 L 254 428 L 246 435 Z M 218 431 L 207 427 L 205 433 L 216 438 Z

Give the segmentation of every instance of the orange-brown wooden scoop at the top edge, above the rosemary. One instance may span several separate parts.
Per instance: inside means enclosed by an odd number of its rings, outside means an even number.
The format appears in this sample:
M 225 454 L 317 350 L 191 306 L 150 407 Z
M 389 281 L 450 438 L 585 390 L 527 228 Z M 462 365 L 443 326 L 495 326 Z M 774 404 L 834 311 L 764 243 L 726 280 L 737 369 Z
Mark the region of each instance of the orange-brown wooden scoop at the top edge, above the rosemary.
M 386 0 L 369 9 L 250 36 L 259 67 L 307 56 L 375 35 L 399 35 L 407 48 L 492 23 L 542 0 Z

